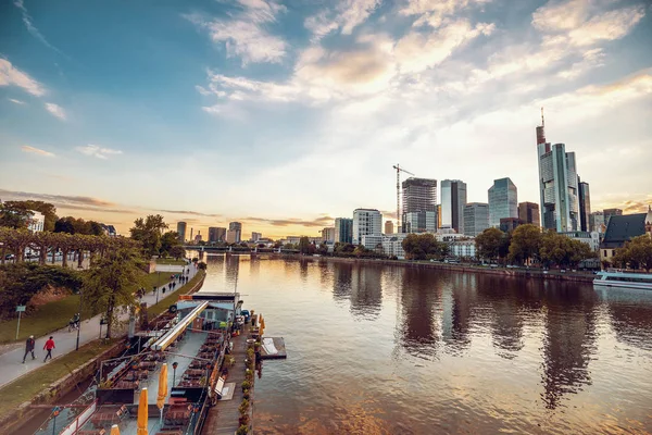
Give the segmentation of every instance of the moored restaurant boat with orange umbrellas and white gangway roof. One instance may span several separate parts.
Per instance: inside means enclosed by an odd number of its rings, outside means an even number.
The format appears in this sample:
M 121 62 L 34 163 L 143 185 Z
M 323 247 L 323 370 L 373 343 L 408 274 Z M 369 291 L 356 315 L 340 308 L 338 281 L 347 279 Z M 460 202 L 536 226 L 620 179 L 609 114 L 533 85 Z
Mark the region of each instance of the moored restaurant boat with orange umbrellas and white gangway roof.
M 37 434 L 137 435 L 145 427 L 150 435 L 200 434 L 224 386 L 222 365 L 228 327 L 241 311 L 238 299 L 237 293 L 181 296 L 164 327 L 138 341 L 141 350 L 102 362 L 86 407 L 71 407 L 66 418 L 53 412 Z

